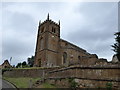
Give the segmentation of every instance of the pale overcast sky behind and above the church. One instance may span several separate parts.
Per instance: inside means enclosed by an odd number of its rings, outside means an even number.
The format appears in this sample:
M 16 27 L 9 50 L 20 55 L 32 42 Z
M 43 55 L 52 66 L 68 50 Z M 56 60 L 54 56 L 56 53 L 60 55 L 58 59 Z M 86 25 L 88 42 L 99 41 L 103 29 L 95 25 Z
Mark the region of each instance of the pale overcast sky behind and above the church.
M 112 60 L 111 50 L 118 31 L 117 2 L 3 2 L 2 60 L 11 64 L 27 61 L 35 54 L 39 20 L 60 20 L 61 38 L 99 58 Z M 2 52 L 1 52 L 2 51 Z

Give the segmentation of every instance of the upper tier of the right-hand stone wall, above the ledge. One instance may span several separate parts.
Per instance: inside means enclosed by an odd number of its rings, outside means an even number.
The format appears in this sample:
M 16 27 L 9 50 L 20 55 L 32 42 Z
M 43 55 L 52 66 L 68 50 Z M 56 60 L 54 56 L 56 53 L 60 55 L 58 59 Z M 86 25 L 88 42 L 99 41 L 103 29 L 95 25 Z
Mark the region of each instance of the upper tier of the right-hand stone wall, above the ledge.
M 117 67 L 68 67 L 54 70 L 48 73 L 49 78 L 89 78 L 103 80 L 118 80 L 120 76 L 120 68 Z M 93 77 L 94 76 L 94 77 Z

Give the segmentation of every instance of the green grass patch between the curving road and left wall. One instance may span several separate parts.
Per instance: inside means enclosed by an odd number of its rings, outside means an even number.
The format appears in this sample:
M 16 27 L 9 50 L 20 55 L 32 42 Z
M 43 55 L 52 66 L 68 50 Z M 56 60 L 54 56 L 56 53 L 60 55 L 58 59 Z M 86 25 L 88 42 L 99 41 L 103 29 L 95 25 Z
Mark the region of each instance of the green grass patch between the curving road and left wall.
M 20 77 L 20 78 L 3 77 L 3 79 L 13 83 L 17 88 L 29 88 L 37 80 L 40 80 L 40 78 L 29 78 L 29 77 Z

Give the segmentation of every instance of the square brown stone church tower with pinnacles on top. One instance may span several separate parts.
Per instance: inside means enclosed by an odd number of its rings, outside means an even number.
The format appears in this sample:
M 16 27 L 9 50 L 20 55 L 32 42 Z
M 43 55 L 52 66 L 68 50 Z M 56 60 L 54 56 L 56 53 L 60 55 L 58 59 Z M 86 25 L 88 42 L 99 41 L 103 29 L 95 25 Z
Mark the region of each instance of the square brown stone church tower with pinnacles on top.
M 34 66 L 57 66 L 59 40 L 60 22 L 55 23 L 48 14 L 44 22 L 39 22 Z

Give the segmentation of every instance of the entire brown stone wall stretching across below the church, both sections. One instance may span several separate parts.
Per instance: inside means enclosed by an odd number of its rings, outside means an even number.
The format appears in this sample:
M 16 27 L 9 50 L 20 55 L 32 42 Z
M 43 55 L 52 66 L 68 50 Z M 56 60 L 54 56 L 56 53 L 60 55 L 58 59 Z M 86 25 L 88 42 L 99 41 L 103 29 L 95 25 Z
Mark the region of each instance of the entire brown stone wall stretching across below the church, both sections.
M 59 87 L 69 87 L 68 79 L 74 78 L 79 87 L 105 87 L 112 83 L 113 87 L 120 88 L 120 65 L 76 65 L 63 68 L 44 69 L 13 69 L 4 72 L 7 77 L 40 77 L 45 82 L 56 84 Z

